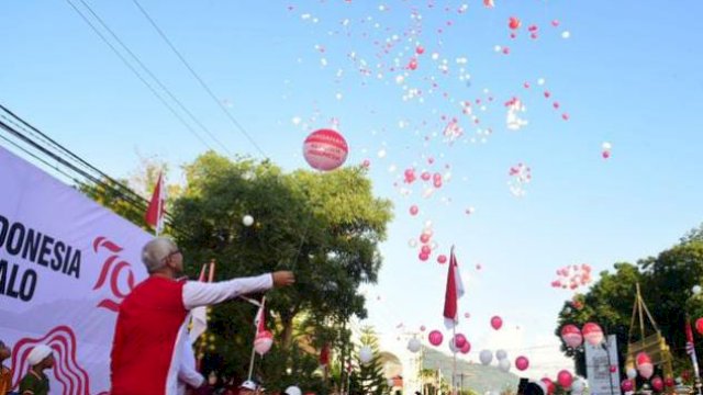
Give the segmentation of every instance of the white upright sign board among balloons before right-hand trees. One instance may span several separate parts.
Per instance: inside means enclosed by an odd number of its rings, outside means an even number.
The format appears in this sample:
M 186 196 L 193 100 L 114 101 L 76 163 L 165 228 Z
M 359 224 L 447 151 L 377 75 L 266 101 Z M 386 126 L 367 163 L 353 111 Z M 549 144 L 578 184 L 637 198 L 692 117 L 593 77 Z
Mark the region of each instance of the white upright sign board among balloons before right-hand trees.
M 620 362 L 617 360 L 617 338 L 607 337 L 607 342 L 593 347 L 584 342 L 585 374 L 591 395 L 620 395 Z

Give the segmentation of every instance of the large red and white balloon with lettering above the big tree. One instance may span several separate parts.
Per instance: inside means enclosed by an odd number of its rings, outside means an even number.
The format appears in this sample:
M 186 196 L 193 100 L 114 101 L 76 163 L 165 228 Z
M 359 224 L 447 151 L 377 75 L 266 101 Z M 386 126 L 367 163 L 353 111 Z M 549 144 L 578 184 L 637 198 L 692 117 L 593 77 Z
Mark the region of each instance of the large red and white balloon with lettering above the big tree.
M 319 129 L 311 133 L 303 144 L 305 161 L 316 170 L 334 170 L 344 165 L 349 146 L 344 137 L 332 129 Z

